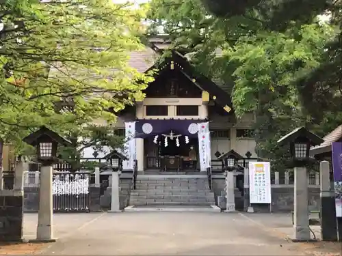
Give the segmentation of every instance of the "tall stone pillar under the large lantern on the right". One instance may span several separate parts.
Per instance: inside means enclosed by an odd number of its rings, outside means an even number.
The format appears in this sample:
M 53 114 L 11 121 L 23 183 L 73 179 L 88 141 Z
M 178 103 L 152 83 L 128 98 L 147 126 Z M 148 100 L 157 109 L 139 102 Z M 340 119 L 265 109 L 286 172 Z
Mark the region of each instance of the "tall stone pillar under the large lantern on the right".
M 293 240 L 311 240 L 308 227 L 308 180 L 306 167 L 295 167 Z

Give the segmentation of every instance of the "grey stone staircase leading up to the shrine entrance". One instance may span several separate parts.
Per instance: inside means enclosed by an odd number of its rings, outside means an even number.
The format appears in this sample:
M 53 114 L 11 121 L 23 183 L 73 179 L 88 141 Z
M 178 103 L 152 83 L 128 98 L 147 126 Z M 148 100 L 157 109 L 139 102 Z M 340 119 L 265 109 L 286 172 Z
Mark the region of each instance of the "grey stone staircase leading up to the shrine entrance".
M 207 175 L 137 175 L 130 205 L 215 205 Z

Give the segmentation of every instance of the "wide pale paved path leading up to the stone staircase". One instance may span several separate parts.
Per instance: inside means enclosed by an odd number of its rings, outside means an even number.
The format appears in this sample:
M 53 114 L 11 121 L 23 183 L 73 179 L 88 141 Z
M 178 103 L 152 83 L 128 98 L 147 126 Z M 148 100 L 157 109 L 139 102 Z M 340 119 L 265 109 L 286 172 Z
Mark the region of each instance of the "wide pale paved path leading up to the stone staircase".
M 55 234 L 60 239 L 42 254 L 307 255 L 306 249 L 287 241 L 284 233 L 250 216 L 258 214 L 55 214 Z M 25 214 L 26 238 L 34 237 L 36 217 Z

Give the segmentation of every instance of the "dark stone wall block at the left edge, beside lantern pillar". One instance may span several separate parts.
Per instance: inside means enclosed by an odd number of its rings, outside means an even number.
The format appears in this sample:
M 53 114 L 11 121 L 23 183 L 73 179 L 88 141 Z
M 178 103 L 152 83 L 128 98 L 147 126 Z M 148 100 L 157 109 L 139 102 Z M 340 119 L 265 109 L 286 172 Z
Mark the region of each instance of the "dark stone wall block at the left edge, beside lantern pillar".
M 0 241 L 23 238 L 23 192 L 0 191 Z

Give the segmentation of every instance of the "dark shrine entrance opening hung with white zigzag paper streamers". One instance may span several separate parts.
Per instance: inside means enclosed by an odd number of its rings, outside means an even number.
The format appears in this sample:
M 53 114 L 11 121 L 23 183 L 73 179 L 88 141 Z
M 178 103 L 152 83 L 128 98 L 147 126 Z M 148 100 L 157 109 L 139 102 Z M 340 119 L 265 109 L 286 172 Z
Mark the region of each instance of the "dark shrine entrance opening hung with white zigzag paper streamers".
M 144 139 L 146 169 L 161 171 L 198 170 L 198 139 L 170 130 Z

